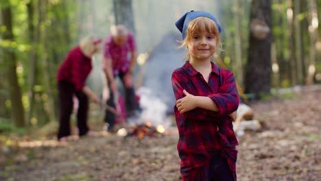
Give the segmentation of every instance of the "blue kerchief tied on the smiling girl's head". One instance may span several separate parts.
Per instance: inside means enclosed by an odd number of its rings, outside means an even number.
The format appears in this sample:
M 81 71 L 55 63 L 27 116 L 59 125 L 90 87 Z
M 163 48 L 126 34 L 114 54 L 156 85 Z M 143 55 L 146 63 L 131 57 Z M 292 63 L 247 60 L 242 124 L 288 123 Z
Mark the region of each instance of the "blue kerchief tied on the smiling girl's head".
M 209 14 L 209 12 L 201 12 L 201 11 L 190 11 L 184 14 L 178 21 L 176 21 L 175 25 L 182 33 L 183 40 L 186 38 L 186 32 L 187 27 L 189 26 L 189 22 L 191 22 L 193 19 L 204 16 L 214 21 L 215 25 L 217 26 L 217 29 L 219 30 L 219 33 L 221 32 L 221 27 L 219 26 L 219 23 L 217 23 L 217 20 L 215 19 L 212 14 Z

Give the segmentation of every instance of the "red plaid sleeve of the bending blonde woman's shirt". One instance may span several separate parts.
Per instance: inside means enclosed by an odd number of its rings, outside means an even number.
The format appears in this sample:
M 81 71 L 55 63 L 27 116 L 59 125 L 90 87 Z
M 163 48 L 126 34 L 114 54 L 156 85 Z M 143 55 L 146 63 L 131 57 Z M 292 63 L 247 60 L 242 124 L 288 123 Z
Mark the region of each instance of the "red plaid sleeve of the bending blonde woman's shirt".
M 86 75 L 84 75 L 84 71 L 82 71 L 82 67 L 84 65 L 82 64 L 80 55 L 76 54 L 73 56 L 70 56 L 71 58 L 71 81 L 73 82 L 75 86 L 76 91 L 82 90 L 84 85 L 86 84 Z

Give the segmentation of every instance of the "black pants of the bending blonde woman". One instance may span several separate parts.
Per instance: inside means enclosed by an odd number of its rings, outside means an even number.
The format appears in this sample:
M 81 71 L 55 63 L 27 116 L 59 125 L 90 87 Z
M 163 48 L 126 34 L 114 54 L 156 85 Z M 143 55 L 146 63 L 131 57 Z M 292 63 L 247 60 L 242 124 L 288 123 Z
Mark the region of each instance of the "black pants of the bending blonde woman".
M 66 81 L 58 82 L 58 90 L 60 99 L 60 125 L 57 135 L 58 140 L 71 134 L 70 116 L 73 112 L 73 95 L 75 95 L 79 101 L 77 111 L 77 126 L 79 130 L 79 136 L 85 135 L 89 130 L 87 125 L 88 97 L 82 93 L 82 91 L 75 91 L 73 84 Z

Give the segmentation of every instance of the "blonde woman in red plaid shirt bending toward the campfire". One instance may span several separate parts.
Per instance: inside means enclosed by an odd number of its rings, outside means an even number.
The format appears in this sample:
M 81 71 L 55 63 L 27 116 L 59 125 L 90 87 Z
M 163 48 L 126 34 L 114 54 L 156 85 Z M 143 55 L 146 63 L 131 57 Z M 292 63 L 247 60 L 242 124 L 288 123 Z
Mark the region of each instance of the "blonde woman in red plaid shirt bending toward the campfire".
M 71 135 L 70 116 L 73 110 L 73 96 L 77 97 L 79 106 L 77 111 L 77 125 L 79 136 L 88 134 L 88 97 L 96 104 L 99 99 L 86 86 L 86 79 L 91 72 L 91 57 L 99 51 L 98 44 L 102 40 L 94 40 L 87 36 L 80 41 L 80 45 L 69 51 L 66 59 L 58 69 L 58 90 L 60 99 L 60 125 L 58 141 L 67 141 Z

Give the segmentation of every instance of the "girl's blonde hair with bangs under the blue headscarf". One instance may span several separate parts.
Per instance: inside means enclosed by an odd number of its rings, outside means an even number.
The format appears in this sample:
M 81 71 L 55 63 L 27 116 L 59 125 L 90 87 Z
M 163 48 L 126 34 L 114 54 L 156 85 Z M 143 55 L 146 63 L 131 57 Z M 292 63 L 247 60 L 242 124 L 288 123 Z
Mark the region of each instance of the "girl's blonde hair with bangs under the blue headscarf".
M 219 53 L 223 51 L 223 47 L 221 41 L 219 40 L 219 29 L 217 28 L 215 22 L 208 17 L 200 16 L 189 22 L 186 32 L 186 38 L 182 41 L 178 41 L 179 43 L 181 43 L 178 48 L 187 47 L 187 45 L 189 45 L 189 43 L 191 42 L 193 34 L 202 32 L 202 30 L 206 30 L 206 32 L 215 35 L 215 38 L 217 40 L 217 47 L 215 53 L 213 53 L 213 56 L 211 58 L 217 58 L 219 56 Z M 189 51 L 187 51 L 185 58 L 189 59 L 189 56 Z

